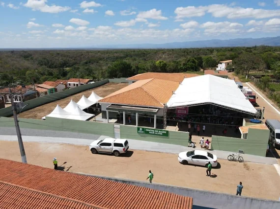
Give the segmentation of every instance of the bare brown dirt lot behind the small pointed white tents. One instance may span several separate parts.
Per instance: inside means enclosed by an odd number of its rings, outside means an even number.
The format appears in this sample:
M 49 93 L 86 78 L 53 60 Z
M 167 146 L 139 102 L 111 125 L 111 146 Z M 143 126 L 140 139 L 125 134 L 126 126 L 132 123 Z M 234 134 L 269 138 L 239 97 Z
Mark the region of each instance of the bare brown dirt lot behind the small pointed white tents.
M 92 91 L 94 91 L 94 93 L 96 93 L 97 95 L 99 95 L 101 97 L 105 97 L 105 96 L 109 95 L 110 93 L 118 91 L 126 86 L 128 86 L 128 83 L 107 83 L 100 87 L 93 88 L 93 89 L 90 89 L 90 90 L 87 90 L 87 91 L 84 91 L 81 93 L 77 93 L 75 95 L 68 96 L 64 99 L 60 99 L 58 101 L 54 101 L 54 102 L 33 108 L 31 110 L 21 113 L 19 117 L 41 119 L 42 117 L 50 114 L 55 109 L 57 104 L 60 107 L 64 108 L 71 101 L 71 99 L 73 99 L 73 101 L 75 101 L 75 102 L 78 102 L 81 99 L 81 97 L 83 96 L 83 94 L 86 97 L 88 97 L 92 93 Z

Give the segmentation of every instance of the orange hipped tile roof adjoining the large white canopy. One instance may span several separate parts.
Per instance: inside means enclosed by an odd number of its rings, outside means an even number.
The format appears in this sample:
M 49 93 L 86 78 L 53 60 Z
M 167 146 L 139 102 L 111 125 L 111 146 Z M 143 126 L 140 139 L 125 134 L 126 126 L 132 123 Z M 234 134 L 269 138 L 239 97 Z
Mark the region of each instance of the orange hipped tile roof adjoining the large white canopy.
M 125 88 L 120 89 L 110 95 L 99 100 L 99 102 L 148 106 L 148 107 L 164 107 L 175 91 L 179 87 L 179 82 L 146 79 L 137 81 Z

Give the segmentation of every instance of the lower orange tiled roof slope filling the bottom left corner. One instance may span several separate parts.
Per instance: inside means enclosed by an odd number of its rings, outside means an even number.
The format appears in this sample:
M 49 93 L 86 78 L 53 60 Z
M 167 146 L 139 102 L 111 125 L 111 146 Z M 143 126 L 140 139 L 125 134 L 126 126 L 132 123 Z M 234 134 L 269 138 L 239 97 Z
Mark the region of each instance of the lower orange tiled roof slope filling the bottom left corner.
M 94 205 L 0 181 L 0 208 L 100 209 Z

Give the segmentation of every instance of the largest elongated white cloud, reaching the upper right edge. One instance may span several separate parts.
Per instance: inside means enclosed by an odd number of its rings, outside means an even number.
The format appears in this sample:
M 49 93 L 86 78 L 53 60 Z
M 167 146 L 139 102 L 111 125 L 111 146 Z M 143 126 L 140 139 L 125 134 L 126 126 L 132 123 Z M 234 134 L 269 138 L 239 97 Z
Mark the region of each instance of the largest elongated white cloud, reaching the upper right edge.
M 267 10 L 267 9 L 253 9 L 243 7 L 232 7 L 226 4 L 211 4 L 208 6 L 187 6 L 177 7 L 174 13 L 177 15 L 176 19 L 189 18 L 189 17 L 201 17 L 210 13 L 213 17 L 228 19 L 238 18 L 271 18 L 280 16 L 280 10 Z

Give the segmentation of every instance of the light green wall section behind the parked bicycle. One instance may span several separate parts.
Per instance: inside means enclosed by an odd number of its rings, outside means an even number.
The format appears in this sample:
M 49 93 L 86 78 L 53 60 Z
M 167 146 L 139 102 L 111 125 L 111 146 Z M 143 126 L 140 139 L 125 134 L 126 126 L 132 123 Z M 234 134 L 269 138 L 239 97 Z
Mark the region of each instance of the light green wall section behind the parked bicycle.
M 252 129 L 248 130 L 247 139 L 212 136 L 212 150 L 224 150 L 237 153 L 243 150 L 245 154 L 266 156 L 266 149 L 269 138 L 269 130 Z

